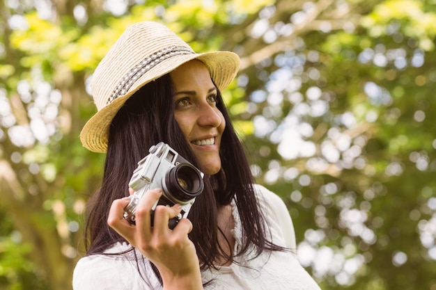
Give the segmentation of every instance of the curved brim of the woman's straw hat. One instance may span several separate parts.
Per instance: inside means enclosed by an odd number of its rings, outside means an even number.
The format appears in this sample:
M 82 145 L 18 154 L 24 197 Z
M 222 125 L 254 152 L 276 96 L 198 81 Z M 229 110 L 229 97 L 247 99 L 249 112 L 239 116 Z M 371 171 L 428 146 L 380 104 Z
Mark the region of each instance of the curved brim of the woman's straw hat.
M 125 104 L 134 92 L 150 81 L 159 79 L 164 74 L 175 70 L 180 65 L 198 59 L 209 70 L 211 79 L 219 90 L 224 90 L 233 81 L 240 67 L 240 58 L 231 51 L 214 51 L 204 54 L 183 54 L 173 56 L 171 60 L 164 61 L 153 67 L 153 72 L 146 72 L 132 86 L 125 95 L 117 97 L 111 104 L 104 106 L 98 113 L 86 122 L 81 130 L 82 145 L 93 152 L 107 152 L 109 127 L 116 113 Z M 153 74 L 153 76 L 151 76 Z M 108 96 L 109 97 L 109 96 Z

